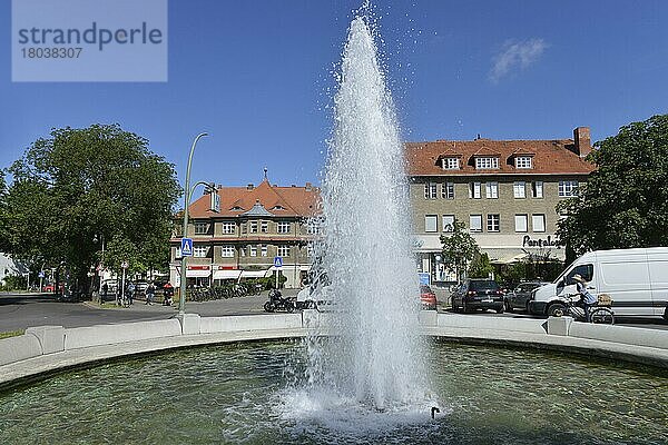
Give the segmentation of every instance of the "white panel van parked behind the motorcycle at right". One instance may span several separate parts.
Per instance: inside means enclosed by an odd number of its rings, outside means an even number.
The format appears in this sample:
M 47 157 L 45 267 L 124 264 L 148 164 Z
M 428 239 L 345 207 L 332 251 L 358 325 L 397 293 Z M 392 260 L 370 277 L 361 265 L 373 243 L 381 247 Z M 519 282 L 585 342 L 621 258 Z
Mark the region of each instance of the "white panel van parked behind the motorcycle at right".
M 615 315 L 664 316 L 668 319 L 668 247 L 595 250 L 576 259 L 559 278 L 533 290 L 529 312 L 553 315 L 569 295 L 578 294 L 573 276 L 587 289 L 612 299 Z

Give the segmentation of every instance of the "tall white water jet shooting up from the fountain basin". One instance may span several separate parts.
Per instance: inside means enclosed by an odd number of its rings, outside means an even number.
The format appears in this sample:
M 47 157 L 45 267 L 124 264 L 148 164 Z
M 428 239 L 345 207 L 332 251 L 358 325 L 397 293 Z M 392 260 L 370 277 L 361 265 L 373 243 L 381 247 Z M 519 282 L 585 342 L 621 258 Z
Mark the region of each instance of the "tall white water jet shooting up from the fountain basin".
M 328 338 L 310 345 L 311 385 L 356 406 L 424 400 L 419 291 L 403 145 L 369 24 L 353 20 L 334 98 L 314 270 L 326 275 Z M 426 408 L 425 408 L 426 409 Z M 426 411 L 425 411 L 426 412 Z

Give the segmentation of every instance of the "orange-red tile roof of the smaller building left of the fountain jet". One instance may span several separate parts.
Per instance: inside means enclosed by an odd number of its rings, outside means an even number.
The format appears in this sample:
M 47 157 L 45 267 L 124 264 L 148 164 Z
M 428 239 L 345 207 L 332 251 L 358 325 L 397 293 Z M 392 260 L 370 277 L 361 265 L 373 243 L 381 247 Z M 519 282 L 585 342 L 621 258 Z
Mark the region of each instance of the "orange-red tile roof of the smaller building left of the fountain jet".
M 190 218 L 238 217 L 250 210 L 256 202 L 277 217 L 310 217 L 317 210 L 320 189 L 312 187 L 277 187 L 267 179 L 257 187 L 220 187 L 220 212 L 209 211 L 210 197 L 202 196 L 190 204 Z M 233 210 L 238 208 L 238 210 Z

